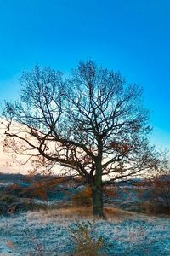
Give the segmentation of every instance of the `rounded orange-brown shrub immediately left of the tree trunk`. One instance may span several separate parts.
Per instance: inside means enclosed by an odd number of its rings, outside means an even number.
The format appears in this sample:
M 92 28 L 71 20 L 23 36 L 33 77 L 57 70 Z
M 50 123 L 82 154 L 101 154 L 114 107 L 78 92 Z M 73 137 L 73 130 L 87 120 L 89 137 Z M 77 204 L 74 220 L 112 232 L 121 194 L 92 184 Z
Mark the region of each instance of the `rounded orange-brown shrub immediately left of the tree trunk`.
M 92 206 L 92 189 L 86 187 L 72 196 L 72 205 L 76 207 L 90 207 Z

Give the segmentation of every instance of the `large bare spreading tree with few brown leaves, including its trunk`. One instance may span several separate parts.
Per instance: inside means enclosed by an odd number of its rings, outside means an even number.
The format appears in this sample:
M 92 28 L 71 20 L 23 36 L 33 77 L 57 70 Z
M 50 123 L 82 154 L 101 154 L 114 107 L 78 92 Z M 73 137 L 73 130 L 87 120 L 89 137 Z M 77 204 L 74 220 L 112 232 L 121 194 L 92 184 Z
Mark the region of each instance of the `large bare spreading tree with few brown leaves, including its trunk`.
M 142 90 L 120 73 L 93 61 L 80 62 L 70 79 L 35 67 L 23 73 L 21 86 L 20 102 L 6 102 L 3 112 L 5 147 L 48 170 L 59 165 L 65 176 L 83 177 L 93 190 L 94 215 L 103 215 L 105 183 L 156 166 Z

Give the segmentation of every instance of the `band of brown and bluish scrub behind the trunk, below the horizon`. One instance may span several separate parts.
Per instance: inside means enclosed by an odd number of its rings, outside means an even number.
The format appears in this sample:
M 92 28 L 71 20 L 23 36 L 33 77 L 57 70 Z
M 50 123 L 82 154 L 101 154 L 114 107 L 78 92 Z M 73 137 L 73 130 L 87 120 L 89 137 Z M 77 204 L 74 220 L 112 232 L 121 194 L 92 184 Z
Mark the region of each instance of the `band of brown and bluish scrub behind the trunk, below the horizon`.
M 73 209 L 93 205 L 92 189 L 82 183 L 77 186 L 77 181 L 71 181 L 71 186 L 76 186 L 77 189 L 68 189 L 65 183 L 58 183 L 56 177 L 46 179 L 40 176 L 29 179 L 22 176 L 18 182 L 15 180 L 16 177 L 14 177 L 15 183 L 7 183 L 6 186 L 0 187 L 0 214 L 63 206 Z M 120 183 L 104 187 L 104 202 L 105 206 L 117 207 L 130 212 L 169 214 L 169 188 L 169 176 L 155 177 L 149 181 Z

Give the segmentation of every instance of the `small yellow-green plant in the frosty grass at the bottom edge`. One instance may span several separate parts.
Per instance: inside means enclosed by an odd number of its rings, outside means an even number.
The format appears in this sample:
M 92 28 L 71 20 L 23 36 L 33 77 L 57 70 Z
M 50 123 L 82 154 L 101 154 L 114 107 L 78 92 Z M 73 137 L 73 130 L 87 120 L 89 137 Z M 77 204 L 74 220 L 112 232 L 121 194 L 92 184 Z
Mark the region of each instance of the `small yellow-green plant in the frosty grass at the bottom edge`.
M 75 256 L 105 255 L 105 237 L 94 237 L 94 224 L 77 222 L 74 228 L 69 229 L 71 240 L 75 243 Z

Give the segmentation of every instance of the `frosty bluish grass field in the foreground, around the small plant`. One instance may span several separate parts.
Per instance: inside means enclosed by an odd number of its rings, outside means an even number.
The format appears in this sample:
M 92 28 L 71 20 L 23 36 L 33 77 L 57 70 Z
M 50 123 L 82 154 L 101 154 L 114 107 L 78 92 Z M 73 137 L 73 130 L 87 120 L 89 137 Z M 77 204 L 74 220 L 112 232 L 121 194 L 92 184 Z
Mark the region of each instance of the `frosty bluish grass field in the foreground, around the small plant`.
M 107 220 L 81 218 L 65 209 L 3 217 L 0 255 L 74 255 L 68 229 L 77 221 L 82 224 L 89 221 L 93 236 L 105 237 L 103 255 L 170 255 L 169 218 L 118 213 Z

